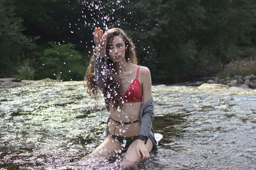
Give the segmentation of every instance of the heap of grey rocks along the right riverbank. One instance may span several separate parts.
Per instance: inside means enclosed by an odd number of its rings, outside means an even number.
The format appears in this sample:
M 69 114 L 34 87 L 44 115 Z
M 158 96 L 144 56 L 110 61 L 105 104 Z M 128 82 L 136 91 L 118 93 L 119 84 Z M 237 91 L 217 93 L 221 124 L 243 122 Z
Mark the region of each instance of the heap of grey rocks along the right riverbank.
M 233 78 L 215 78 L 214 80 L 208 80 L 207 83 L 218 83 L 223 85 L 228 85 L 230 87 L 248 87 L 251 89 L 256 89 L 256 76 L 234 76 Z

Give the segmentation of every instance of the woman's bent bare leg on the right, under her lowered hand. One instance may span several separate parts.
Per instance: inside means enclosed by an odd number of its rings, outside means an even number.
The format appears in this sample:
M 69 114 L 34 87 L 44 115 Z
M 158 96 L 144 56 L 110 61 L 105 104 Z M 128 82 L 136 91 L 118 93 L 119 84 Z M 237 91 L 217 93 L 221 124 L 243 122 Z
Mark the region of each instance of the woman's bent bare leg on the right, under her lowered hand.
M 137 142 L 138 142 L 138 139 L 136 139 L 127 149 L 127 152 L 124 154 L 124 160 L 122 162 L 122 166 L 131 167 L 137 164 L 141 160 L 136 153 Z M 148 152 L 152 150 L 153 143 L 149 138 L 145 146 Z

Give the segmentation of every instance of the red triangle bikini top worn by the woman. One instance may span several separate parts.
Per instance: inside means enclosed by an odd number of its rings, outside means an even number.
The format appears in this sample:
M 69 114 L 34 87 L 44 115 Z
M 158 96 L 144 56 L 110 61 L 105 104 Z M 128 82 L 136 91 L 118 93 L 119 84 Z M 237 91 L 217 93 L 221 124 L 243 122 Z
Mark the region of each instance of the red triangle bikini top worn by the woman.
M 131 85 L 128 87 L 127 91 L 123 96 L 124 102 L 126 103 L 142 101 L 142 92 L 140 87 L 140 81 L 138 78 L 139 69 L 140 69 L 140 66 L 138 67 L 136 78 L 134 78 Z M 108 99 L 108 101 L 110 102 L 111 99 Z

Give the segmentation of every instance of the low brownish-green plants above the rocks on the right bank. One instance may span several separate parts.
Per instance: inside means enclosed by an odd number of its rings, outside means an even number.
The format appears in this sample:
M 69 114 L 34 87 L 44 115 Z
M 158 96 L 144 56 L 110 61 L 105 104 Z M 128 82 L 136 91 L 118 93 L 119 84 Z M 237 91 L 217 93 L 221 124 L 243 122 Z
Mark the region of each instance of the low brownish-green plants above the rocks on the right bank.
M 242 60 L 234 60 L 223 66 L 223 69 L 218 73 L 219 78 L 234 77 L 236 75 L 248 76 L 256 75 L 256 57 L 248 57 Z

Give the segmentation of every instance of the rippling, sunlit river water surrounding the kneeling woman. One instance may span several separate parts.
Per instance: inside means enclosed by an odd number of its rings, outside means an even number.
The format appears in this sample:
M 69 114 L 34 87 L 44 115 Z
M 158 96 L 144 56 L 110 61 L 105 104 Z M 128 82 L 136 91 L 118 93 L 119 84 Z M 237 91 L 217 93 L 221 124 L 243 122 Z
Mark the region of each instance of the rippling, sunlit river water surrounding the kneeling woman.
M 256 90 L 156 85 L 152 94 L 163 138 L 134 169 L 256 169 Z M 83 81 L 1 85 L 0 102 L 0 169 L 119 169 L 118 159 L 80 161 L 108 118 Z

